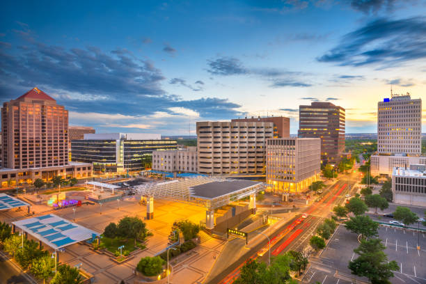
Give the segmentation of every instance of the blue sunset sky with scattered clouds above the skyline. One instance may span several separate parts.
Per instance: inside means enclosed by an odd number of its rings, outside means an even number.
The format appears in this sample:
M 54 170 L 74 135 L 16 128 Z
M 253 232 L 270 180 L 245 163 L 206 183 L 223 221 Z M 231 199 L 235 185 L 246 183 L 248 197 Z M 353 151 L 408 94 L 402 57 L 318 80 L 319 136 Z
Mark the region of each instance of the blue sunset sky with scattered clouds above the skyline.
M 377 132 L 377 102 L 423 99 L 426 0 L 5 1 L 0 102 L 33 87 L 102 132 L 195 135 L 196 121 L 346 109 Z

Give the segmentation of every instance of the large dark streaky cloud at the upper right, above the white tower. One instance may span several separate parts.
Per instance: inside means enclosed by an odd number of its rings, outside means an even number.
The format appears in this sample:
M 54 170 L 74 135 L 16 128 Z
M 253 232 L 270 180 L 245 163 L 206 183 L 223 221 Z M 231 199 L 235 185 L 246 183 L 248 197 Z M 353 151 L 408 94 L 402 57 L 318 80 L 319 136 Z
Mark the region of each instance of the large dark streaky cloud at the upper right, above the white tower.
M 426 18 L 377 19 L 345 35 L 340 44 L 317 58 L 338 65 L 389 68 L 426 58 Z

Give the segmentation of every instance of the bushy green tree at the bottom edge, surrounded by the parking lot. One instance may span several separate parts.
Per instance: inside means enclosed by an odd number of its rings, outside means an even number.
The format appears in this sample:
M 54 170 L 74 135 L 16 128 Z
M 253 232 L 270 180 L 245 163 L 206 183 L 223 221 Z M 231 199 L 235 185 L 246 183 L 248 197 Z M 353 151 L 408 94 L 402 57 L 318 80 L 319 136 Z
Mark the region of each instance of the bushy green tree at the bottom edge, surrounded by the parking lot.
M 372 284 L 388 284 L 389 278 L 393 277 L 393 270 L 398 269 L 397 262 L 388 262 L 386 254 L 383 252 L 385 246 L 381 244 L 381 239 L 370 239 L 361 241 L 358 248 L 354 249 L 358 253 L 358 258 L 349 261 L 349 269 L 352 274 L 367 277 Z

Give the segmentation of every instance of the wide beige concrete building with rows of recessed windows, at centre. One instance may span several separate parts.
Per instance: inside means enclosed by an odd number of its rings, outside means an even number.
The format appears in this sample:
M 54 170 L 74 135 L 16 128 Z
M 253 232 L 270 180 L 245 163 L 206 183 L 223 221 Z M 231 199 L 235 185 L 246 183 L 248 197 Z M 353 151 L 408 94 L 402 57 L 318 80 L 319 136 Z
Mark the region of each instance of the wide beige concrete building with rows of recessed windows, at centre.
M 198 173 L 206 175 L 265 174 L 266 141 L 274 123 L 198 122 Z

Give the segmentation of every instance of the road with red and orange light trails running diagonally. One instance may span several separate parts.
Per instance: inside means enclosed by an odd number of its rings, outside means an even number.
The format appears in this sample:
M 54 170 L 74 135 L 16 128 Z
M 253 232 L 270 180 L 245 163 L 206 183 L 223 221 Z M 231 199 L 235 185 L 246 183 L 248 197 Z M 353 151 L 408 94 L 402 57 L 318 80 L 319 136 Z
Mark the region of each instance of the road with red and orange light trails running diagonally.
M 294 218 L 290 219 L 283 226 L 278 228 L 271 235 L 271 256 L 283 254 L 290 250 L 301 251 L 303 248 L 308 246 L 310 236 L 315 234 L 317 226 L 322 223 L 322 220 L 331 216 L 331 210 L 337 204 L 343 203 L 345 200 L 345 195 L 352 191 L 354 184 L 356 182 L 356 174 L 346 175 L 342 180 L 338 180 L 335 184 L 332 184 L 329 188 L 324 190 L 319 201 L 313 203 L 307 207 L 301 213 L 307 213 L 308 217 L 299 223 L 298 219 L 301 215 L 297 215 Z M 354 193 L 352 193 L 354 194 Z M 277 235 L 280 237 L 276 238 Z M 276 239 L 279 239 L 278 242 L 275 242 Z M 242 240 L 237 239 L 232 242 L 242 242 Z M 245 253 L 240 253 L 237 251 L 237 247 L 233 245 L 230 251 L 224 249 L 223 255 L 226 255 L 223 258 L 223 261 L 218 260 L 219 266 L 223 267 L 223 270 L 211 276 L 207 279 L 206 283 L 222 283 L 228 284 L 232 283 L 239 276 L 239 269 L 244 265 L 244 263 L 251 258 L 258 258 L 259 260 L 268 261 L 268 253 L 258 257 L 258 251 L 263 247 L 267 246 L 268 242 L 265 239 L 264 242 L 260 242 L 258 246 L 255 246 Z M 232 255 L 234 257 L 232 257 Z M 237 255 L 237 257 L 235 257 Z M 230 258 L 227 258 L 230 256 Z

